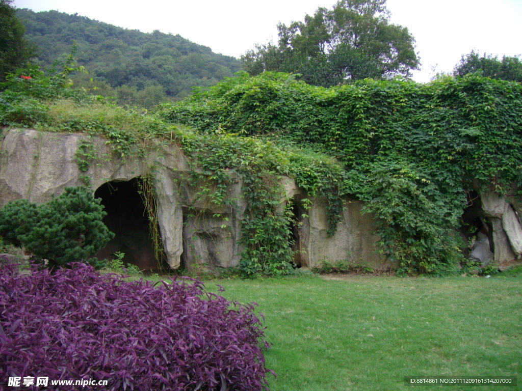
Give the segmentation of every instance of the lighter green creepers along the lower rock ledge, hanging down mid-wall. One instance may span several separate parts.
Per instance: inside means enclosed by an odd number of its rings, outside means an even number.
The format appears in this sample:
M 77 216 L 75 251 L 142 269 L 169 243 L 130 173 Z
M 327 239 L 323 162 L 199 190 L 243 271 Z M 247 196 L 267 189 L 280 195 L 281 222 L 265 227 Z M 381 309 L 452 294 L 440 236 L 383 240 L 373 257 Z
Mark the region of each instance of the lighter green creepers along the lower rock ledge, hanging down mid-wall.
M 241 227 L 245 251 L 240 271 L 245 276 L 280 275 L 292 270 L 293 254 L 288 238 L 291 213 L 290 206 L 284 213 L 281 205 L 282 189 L 278 185 L 281 174 L 297 177 L 312 196 L 328 194 L 330 234 L 335 232 L 342 207 L 335 189 L 342 179 L 342 169 L 333 158 L 252 137 L 230 136 L 219 131 L 202 134 L 177 127 L 159 116 L 89 96 L 65 82 L 70 71 L 79 70 L 72 56 L 62 72 L 46 75 L 30 69 L 26 72 L 33 75 L 29 80 L 11 75 L 0 92 L 0 124 L 104 136 L 121 157 L 142 155 L 152 139 L 179 143 L 193 157 L 192 177 L 202 186 L 200 196 L 208 194 L 218 204 L 230 202 L 226 195 L 229 174 L 234 170 L 244 181 L 244 197 L 248 200 Z M 97 156 L 89 140 L 78 144 L 76 160 L 80 170 L 88 170 L 100 158 L 106 157 Z M 189 213 L 192 212 L 191 206 Z

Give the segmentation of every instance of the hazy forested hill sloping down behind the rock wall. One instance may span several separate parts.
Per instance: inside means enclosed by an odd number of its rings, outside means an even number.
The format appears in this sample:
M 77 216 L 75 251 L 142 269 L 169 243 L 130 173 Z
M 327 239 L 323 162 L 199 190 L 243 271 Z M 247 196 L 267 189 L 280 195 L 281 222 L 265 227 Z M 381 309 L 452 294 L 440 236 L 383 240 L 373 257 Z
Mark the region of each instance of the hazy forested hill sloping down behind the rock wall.
M 41 66 L 51 67 L 76 41 L 78 64 L 89 75 L 76 76 L 75 84 L 92 88 L 93 78 L 97 94 L 117 96 L 123 104 L 151 106 L 179 100 L 192 87 L 214 85 L 241 69 L 240 60 L 180 35 L 143 33 L 58 11 L 17 9 L 17 17 L 41 51 Z

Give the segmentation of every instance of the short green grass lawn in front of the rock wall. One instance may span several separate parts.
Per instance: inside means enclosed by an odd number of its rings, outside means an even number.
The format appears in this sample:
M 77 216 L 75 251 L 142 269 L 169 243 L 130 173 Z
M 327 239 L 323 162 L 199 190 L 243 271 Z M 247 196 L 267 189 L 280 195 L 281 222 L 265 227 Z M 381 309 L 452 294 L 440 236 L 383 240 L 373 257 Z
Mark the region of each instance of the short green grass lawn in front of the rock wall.
M 404 376 L 514 376 L 522 368 L 522 272 L 508 276 L 212 280 L 266 318 L 272 391 L 435 389 Z M 446 387 L 444 387 L 446 388 Z M 518 386 L 450 386 L 515 390 Z

